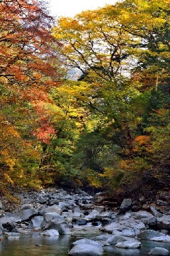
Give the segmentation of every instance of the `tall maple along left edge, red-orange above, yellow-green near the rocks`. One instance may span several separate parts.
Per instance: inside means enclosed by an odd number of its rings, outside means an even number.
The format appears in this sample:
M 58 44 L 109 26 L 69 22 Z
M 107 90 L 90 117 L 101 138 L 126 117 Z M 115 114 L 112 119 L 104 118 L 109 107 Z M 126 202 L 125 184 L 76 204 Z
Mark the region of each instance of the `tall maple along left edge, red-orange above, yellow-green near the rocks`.
M 1 182 L 39 186 L 41 143 L 55 134 L 44 104 L 61 78 L 60 44 L 44 1 L 1 1 L 0 11 Z

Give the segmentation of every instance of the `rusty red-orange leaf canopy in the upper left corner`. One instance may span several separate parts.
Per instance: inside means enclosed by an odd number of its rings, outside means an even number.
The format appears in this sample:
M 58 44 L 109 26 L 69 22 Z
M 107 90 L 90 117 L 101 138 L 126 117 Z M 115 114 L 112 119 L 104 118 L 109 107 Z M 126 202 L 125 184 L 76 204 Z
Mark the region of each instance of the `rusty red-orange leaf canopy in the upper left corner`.
M 42 84 L 42 78 L 56 78 L 57 68 L 50 63 L 58 42 L 51 35 L 52 17 L 38 1 L 1 1 L 0 67 L 8 80 Z M 49 61 L 48 61 L 49 60 Z

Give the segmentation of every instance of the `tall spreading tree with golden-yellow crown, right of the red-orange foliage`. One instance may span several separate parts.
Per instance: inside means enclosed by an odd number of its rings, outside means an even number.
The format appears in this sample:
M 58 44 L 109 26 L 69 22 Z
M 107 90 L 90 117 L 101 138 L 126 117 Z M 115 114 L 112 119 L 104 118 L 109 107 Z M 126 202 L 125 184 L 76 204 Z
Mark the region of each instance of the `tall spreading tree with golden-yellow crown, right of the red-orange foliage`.
M 169 1 L 125 0 L 84 11 L 74 18 L 60 18 L 53 33 L 63 44 L 61 53 L 66 64 L 79 68 L 79 80 L 89 82 L 91 112 L 101 114 L 102 125 L 82 136 L 78 155 L 87 163 L 84 156 L 88 157 L 96 144 L 88 145 L 84 138 L 91 137 L 92 142 L 96 137 L 98 142 L 103 134 L 114 145 L 115 153 L 112 161 L 101 165 L 108 183 L 114 187 L 118 182 L 121 189 L 137 191 L 148 177 L 147 186 L 154 186 L 153 155 L 160 153 L 158 148 L 166 141 L 166 133 L 155 142 L 157 124 L 154 132 L 150 126 L 154 112 L 169 110 Z M 162 92 L 165 95 L 160 100 Z M 98 163 L 102 143 L 87 167 Z M 138 177 L 139 186 L 135 183 Z

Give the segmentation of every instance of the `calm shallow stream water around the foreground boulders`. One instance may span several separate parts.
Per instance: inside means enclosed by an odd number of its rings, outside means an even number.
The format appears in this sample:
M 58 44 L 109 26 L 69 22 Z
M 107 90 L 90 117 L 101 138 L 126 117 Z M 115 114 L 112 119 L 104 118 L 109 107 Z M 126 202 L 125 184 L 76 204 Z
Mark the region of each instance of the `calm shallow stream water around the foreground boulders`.
M 82 237 L 81 237 L 82 238 Z M 86 238 L 91 236 L 86 235 Z M 7 236 L 0 242 L 1 256 L 67 256 L 70 244 L 74 240 L 70 235 L 60 235 L 58 238 L 50 238 L 32 233 L 21 234 L 18 239 L 10 239 Z M 115 246 L 105 247 L 103 256 L 145 256 L 153 247 L 164 247 L 170 251 L 170 243 L 166 242 L 142 242 L 140 250 L 119 249 Z

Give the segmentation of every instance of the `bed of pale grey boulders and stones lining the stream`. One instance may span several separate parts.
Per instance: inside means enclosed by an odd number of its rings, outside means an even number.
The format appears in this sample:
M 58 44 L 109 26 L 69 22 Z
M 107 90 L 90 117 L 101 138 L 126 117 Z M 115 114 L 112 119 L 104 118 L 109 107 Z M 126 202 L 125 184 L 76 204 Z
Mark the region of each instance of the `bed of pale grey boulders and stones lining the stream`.
M 82 231 L 94 238 L 78 239 L 69 255 L 102 255 L 104 248 L 138 249 L 141 240 L 170 242 L 170 193 L 159 193 L 152 204 L 140 209 L 131 198 L 125 198 L 116 208 L 101 204 L 102 194 L 91 196 L 84 191 L 68 193 L 51 188 L 17 195 L 21 204 L 7 212 L 0 201 L 0 240 L 5 235 L 18 239 L 21 233 L 38 232 L 40 235 L 77 237 Z M 76 235 L 75 235 L 76 234 Z M 80 235 L 81 236 L 81 235 Z M 169 255 L 169 250 L 155 247 L 150 255 Z

